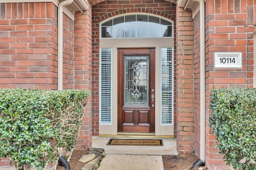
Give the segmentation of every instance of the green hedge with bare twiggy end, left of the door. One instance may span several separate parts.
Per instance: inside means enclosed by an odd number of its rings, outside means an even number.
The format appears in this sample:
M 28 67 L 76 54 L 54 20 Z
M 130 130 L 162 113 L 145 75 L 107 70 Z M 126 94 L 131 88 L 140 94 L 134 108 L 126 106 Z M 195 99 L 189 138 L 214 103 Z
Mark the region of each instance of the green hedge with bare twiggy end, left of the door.
M 15 169 L 43 169 L 61 148 L 76 144 L 85 90 L 28 90 L 0 88 L 0 157 Z

